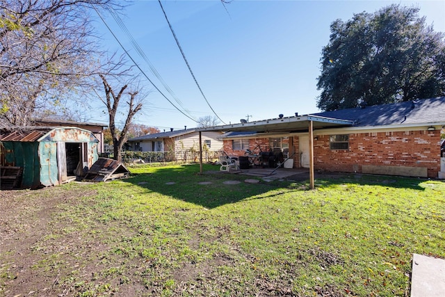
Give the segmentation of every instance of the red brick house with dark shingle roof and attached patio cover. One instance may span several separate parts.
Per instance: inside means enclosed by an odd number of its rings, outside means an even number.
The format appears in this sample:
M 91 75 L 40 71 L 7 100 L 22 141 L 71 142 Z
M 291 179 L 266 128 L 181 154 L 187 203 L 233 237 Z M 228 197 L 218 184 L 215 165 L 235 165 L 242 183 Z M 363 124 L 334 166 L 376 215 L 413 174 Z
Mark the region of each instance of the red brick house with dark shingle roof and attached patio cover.
M 280 116 L 201 131 L 227 131 L 223 141 L 224 151 L 229 155 L 244 156 L 246 150 L 252 154 L 280 150 L 284 158 L 291 157 L 296 168 L 445 176 L 440 166 L 445 97 Z

